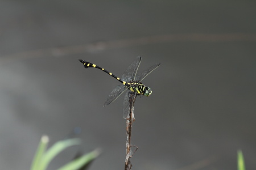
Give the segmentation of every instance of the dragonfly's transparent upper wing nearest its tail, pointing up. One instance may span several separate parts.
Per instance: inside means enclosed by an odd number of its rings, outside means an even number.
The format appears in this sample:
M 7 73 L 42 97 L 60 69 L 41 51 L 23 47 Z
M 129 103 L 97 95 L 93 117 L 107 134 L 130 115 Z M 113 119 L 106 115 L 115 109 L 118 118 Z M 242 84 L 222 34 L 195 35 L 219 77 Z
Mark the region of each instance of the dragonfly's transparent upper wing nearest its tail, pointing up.
M 141 56 L 138 56 L 137 59 L 135 59 L 131 63 L 131 65 L 128 67 L 125 73 L 123 73 L 122 80 L 125 82 L 130 82 L 130 80 L 134 80 L 140 63 L 141 63 Z

